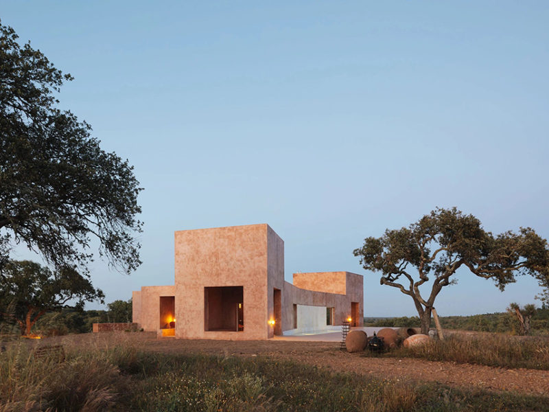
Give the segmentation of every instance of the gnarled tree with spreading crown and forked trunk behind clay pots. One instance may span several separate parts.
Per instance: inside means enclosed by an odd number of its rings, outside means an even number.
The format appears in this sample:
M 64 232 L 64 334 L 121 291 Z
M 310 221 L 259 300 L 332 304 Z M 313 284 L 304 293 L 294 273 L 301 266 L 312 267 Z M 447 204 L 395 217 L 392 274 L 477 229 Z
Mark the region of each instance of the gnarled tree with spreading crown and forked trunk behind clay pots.
M 515 282 L 517 275 L 532 275 L 541 286 L 549 279 L 548 244 L 533 229 L 494 236 L 476 217 L 455 207 L 437 208 L 409 227 L 366 238 L 354 255 L 366 270 L 382 274 L 382 285 L 412 298 L 423 333 L 429 328 L 436 296 L 444 286 L 456 283 L 456 271 L 462 266 L 492 279 L 500 290 Z M 425 295 L 420 291 L 423 284 L 431 286 Z

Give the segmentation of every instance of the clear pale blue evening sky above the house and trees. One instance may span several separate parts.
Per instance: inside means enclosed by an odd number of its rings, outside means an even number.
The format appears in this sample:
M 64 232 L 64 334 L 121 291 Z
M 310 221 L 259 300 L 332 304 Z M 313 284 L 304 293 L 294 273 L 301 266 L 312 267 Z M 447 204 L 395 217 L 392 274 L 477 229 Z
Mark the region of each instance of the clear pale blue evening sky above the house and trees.
M 268 223 L 287 280 L 364 274 L 366 316 L 416 312 L 353 249 L 434 207 L 549 238 L 547 1 L 1 0 L 0 19 L 75 77 L 61 108 L 145 188 L 142 266 L 93 266 L 108 302 L 173 284 L 175 230 Z M 435 306 L 537 293 L 463 271 Z

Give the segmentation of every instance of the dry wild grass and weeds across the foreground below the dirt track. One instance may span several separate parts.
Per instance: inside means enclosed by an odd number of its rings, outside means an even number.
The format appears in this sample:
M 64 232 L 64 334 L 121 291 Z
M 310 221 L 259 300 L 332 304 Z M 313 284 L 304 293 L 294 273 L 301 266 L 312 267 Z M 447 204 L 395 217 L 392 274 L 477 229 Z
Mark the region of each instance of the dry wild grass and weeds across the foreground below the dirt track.
M 548 398 L 335 373 L 268 356 L 163 354 L 132 343 L 0 358 L 0 411 L 547 411 Z

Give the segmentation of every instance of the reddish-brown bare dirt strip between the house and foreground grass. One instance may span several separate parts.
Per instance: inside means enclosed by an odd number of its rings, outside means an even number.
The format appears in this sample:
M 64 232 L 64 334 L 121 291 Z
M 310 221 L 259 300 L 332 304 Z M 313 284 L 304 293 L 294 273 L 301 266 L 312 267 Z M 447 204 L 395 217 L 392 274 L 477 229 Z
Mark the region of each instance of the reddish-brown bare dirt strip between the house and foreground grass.
M 367 358 L 339 350 L 336 342 L 304 341 L 206 341 L 156 339 L 147 332 L 82 334 L 50 338 L 62 343 L 112 345 L 128 341 L 146 350 L 165 354 L 204 353 L 222 356 L 272 356 L 324 367 L 400 381 L 440 382 L 454 387 L 517 391 L 549 397 L 549 371 L 504 369 L 482 365 L 432 362 L 413 358 Z M 43 340 L 40 344 L 45 344 Z M 52 342 L 53 343 L 53 342 Z

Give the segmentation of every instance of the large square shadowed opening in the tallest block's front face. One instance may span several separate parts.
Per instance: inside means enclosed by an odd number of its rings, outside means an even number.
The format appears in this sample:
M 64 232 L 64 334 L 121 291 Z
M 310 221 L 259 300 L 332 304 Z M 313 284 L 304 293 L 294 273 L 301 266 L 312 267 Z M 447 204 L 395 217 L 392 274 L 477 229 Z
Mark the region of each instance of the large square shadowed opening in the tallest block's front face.
M 204 288 L 204 330 L 242 332 L 244 330 L 242 286 Z

